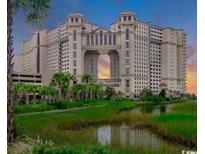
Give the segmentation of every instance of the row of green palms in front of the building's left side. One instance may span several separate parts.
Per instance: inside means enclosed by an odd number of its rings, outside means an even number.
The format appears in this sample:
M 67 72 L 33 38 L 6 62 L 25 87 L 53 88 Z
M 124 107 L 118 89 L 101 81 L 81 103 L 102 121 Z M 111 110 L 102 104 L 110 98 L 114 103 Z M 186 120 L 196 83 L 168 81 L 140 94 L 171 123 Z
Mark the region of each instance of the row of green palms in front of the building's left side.
M 49 86 L 26 84 L 22 82 L 13 85 L 14 101 L 20 103 L 33 103 L 37 100 L 53 102 L 56 100 L 69 99 L 92 99 L 100 98 L 103 94 L 103 87 L 92 79 L 89 74 L 81 77 L 81 83 L 76 78 L 65 72 L 53 74 Z M 38 97 L 38 99 L 37 99 Z

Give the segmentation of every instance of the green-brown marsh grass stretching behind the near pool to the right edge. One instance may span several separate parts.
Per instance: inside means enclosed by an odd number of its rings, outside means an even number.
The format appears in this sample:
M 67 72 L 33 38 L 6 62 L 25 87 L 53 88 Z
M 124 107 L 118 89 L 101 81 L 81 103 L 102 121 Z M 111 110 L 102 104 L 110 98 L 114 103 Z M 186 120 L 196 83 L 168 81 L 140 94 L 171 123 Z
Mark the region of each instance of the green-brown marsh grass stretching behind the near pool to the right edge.
M 63 113 L 16 115 L 15 119 L 19 133 L 23 132 L 31 138 L 40 136 L 43 140 L 52 140 L 56 145 L 68 143 L 70 136 L 66 131 L 77 130 L 90 125 L 120 124 L 122 122 L 132 127 L 154 126 L 150 128 L 155 129 L 157 127 L 157 133 L 162 136 L 196 143 L 196 103 L 176 103 L 172 112 L 159 116 L 119 113 L 121 110 L 130 109 L 137 105 L 137 103 L 129 100 L 107 101 L 106 106 L 98 108 L 93 107 Z

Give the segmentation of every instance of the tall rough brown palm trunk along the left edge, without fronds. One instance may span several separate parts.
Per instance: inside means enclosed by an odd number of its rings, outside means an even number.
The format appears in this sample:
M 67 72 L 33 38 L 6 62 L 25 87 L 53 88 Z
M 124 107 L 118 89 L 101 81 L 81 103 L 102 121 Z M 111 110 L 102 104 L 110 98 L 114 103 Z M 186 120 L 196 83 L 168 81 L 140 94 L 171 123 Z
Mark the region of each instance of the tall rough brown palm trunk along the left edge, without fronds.
M 7 142 L 14 141 L 14 118 L 13 118 L 13 93 L 12 93 L 12 70 L 13 70 L 13 4 L 7 0 Z

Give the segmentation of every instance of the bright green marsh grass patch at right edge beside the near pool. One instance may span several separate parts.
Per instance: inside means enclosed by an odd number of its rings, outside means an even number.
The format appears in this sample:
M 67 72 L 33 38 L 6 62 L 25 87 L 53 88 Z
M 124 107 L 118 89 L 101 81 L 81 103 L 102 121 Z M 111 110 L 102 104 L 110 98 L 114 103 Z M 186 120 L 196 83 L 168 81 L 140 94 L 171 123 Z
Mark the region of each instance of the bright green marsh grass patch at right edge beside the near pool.
M 169 114 L 154 117 L 158 131 L 166 137 L 190 144 L 197 144 L 197 105 L 194 102 L 175 104 Z

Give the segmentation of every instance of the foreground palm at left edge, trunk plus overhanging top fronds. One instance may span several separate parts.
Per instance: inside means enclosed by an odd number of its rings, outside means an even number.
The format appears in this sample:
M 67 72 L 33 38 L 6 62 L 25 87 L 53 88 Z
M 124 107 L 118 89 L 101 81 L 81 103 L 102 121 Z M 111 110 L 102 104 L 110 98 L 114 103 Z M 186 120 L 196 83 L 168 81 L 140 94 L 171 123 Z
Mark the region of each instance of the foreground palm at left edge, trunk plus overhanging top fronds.
M 7 0 L 7 141 L 14 141 L 13 118 L 13 14 L 15 10 L 24 10 L 26 21 L 40 23 L 47 17 L 50 9 L 50 0 Z

